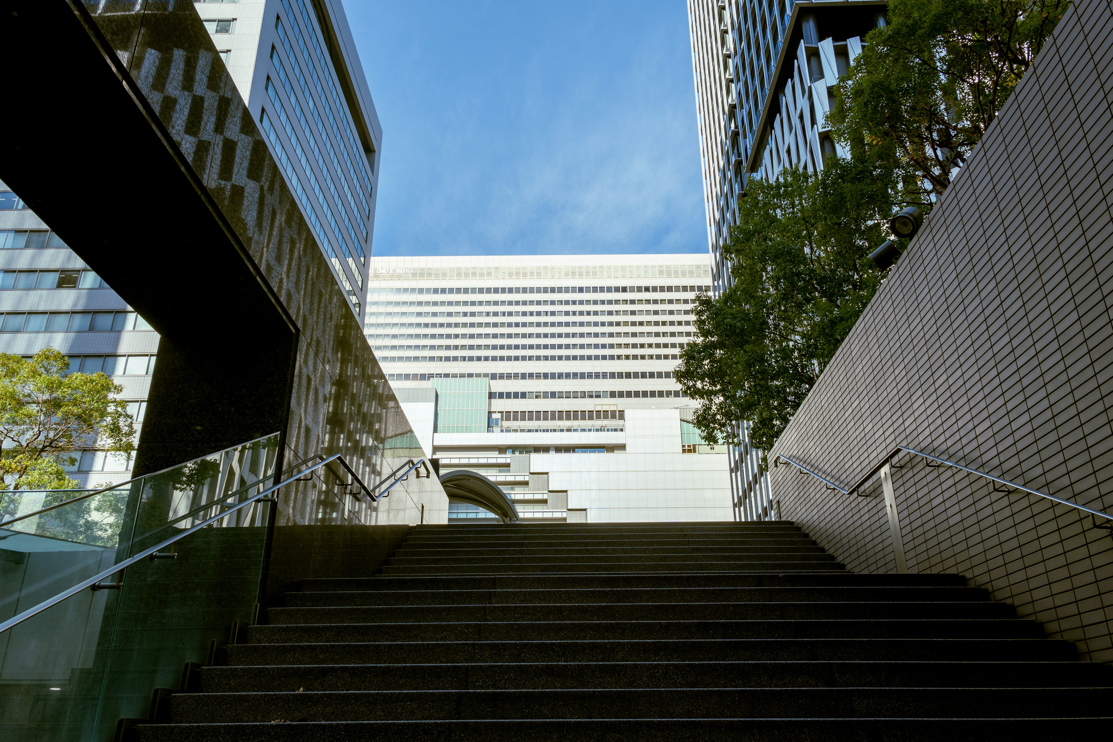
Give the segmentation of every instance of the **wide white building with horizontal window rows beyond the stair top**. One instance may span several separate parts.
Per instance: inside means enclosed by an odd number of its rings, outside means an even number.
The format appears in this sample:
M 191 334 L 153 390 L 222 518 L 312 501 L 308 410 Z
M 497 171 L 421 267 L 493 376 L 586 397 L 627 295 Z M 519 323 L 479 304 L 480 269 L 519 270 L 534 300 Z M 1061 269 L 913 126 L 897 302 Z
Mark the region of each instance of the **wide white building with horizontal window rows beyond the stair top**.
M 726 449 L 699 437 L 672 375 L 707 256 L 372 267 L 368 342 L 442 473 L 483 474 L 528 520 L 731 520 Z

